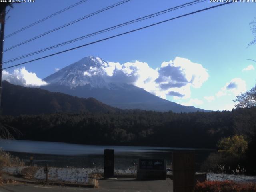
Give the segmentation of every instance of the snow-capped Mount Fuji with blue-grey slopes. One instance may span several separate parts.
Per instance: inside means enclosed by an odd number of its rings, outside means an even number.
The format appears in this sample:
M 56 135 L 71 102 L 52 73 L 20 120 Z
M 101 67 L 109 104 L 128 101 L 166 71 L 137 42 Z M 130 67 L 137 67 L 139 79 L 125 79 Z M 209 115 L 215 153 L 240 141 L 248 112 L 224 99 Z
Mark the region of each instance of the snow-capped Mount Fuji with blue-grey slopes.
M 105 104 L 121 109 L 142 109 L 154 111 L 196 112 L 205 111 L 193 106 L 183 106 L 155 96 L 143 88 L 120 82 L 118 78 L 106 75 L 115 70 L 101 58 L 82 58 L 54 74 L 44 78 L 47 86 L 40 88 L 72 96 L 93 97 Z

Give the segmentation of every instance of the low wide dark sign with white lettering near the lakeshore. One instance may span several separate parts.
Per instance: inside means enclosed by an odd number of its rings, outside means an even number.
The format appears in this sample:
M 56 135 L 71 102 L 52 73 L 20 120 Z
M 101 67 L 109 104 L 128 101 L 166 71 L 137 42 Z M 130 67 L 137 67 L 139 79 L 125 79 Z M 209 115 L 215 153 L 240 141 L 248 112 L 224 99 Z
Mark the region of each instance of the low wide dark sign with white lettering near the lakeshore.
M 164 159 L 139 159 L 137 166 L 137 179 L 166 179 L 166 160 Z

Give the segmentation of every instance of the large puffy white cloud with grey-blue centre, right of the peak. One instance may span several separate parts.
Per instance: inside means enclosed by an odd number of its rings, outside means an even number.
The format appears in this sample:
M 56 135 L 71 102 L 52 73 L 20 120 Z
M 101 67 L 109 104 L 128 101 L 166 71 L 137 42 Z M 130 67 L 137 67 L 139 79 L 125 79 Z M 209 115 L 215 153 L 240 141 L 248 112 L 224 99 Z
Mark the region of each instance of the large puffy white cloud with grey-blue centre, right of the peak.
M 163 62 L 156 70 L 158 78 L 155 82 L 158 83 L 159 90 L 174 99 L 190 98 L 191 87 L 200 88 L 209 77 L 201 64 L 180 57 Z

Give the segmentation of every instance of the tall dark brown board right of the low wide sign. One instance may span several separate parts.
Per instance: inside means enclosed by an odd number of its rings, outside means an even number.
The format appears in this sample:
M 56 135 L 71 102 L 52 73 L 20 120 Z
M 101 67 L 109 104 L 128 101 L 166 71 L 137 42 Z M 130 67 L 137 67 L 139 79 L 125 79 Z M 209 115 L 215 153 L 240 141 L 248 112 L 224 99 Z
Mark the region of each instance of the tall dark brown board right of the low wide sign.
M 194 188 L 195 153 L 173 152 L 173 192 L 192 192 Z

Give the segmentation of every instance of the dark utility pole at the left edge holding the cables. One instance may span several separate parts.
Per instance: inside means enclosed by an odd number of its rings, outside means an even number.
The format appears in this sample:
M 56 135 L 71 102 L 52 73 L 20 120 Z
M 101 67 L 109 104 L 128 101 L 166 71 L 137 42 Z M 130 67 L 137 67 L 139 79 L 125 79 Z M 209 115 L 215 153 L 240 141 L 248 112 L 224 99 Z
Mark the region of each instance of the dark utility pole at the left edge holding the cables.
M 4 24 L 5 24 L 5 8 L 0 16 L 1 31 L 0 31 L 0 114 L 2 112 L 2 67 L 3 67 L 3 51 L 4 51 Z

